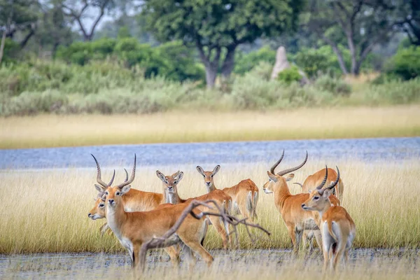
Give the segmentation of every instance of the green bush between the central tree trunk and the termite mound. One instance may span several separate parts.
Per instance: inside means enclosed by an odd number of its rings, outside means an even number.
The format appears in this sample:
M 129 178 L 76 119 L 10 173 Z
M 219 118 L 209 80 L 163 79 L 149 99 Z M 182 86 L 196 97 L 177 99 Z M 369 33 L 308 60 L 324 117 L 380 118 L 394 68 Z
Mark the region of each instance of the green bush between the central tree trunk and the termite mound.
M 274 65 L 274 62 L 276 62 L 276 51 L 269 48 L 269 46 L 264 46 L 259 50 L 246 54 L 237 52 L 234 73 L 244 74 L 251 71 L 260 62 L 269 62 Z

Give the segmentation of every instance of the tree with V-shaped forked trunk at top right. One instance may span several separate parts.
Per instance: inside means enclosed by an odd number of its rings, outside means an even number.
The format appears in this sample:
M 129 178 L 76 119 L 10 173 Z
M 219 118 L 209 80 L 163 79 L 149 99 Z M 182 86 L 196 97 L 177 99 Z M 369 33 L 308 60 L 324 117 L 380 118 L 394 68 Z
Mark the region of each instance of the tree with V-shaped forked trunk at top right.
M 304 14 L 306 27 L 320 36 L 337 55 L 344 74 L 358 75 L 373 47 L 395 33 L 392 0 L 311 0 Z M 339 41 L 346 40 L 351 68 L 344 63 Z M 344 44 L 345 45 L 345 44 Z

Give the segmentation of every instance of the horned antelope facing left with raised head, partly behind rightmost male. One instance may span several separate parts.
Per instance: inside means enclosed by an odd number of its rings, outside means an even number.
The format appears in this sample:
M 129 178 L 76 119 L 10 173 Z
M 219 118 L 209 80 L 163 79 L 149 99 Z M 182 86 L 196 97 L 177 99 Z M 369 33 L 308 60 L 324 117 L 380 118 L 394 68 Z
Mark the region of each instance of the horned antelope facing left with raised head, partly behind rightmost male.
M 309 194 L 300 193 L 292 195 L 287 186 L 287 181 L 290 181 L 295 176 L 294 174 L 288 173 L 294 172 L 303 167 L 307 162 L 308 153 L 306 153 L 304 161 L 297 167 L 286 169 L 274 174 L 274 170 L 280 164 L 281 160 L 283 160 L 283 156 L 284 151 L 280 160 L 278 160 L 273 167 L 267 171 L 269 182 L 264 184 L 263 189 L 265 193 L 274 193 L 274 204 L 277 210 L 279 210 L 281 218 L 283 218 L 288 234 L 292 239 L 293 251 L 296 253 L 299 250 L 302 232 L 304 230 L 318 230 L 318 225 L 315 221 L 316 217 L 314 214 L 304 211 L 301 207 L 302 203 L 308 199 Z M 286 178 L 283 177 L 286 174 L 288 174 L 288 176 L 286 176 Z

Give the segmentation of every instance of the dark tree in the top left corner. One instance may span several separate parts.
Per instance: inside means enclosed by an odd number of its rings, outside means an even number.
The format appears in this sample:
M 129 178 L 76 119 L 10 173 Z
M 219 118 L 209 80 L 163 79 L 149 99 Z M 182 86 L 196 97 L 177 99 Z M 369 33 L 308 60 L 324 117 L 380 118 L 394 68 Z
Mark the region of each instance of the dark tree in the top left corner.
M 0 0 L 0 62 L 6 38 L 13 38 L 17 31 L 27 32 L 20 41 L 24 48 L 29 38 L 35 34 L 38 2 L 33 0 Z

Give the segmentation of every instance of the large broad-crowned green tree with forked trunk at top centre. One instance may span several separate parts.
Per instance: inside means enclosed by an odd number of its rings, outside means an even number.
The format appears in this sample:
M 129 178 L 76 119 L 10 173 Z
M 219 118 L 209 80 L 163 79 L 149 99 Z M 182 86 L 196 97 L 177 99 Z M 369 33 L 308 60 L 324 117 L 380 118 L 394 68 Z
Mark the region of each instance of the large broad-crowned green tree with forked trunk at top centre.
M 301 0 L 146 0 L 143 13 L 159 41 L 197 48 L 211 88 L 219 66 L 223 78 L 232 73 L 238 45 L 293 29 L 301 8 Z

